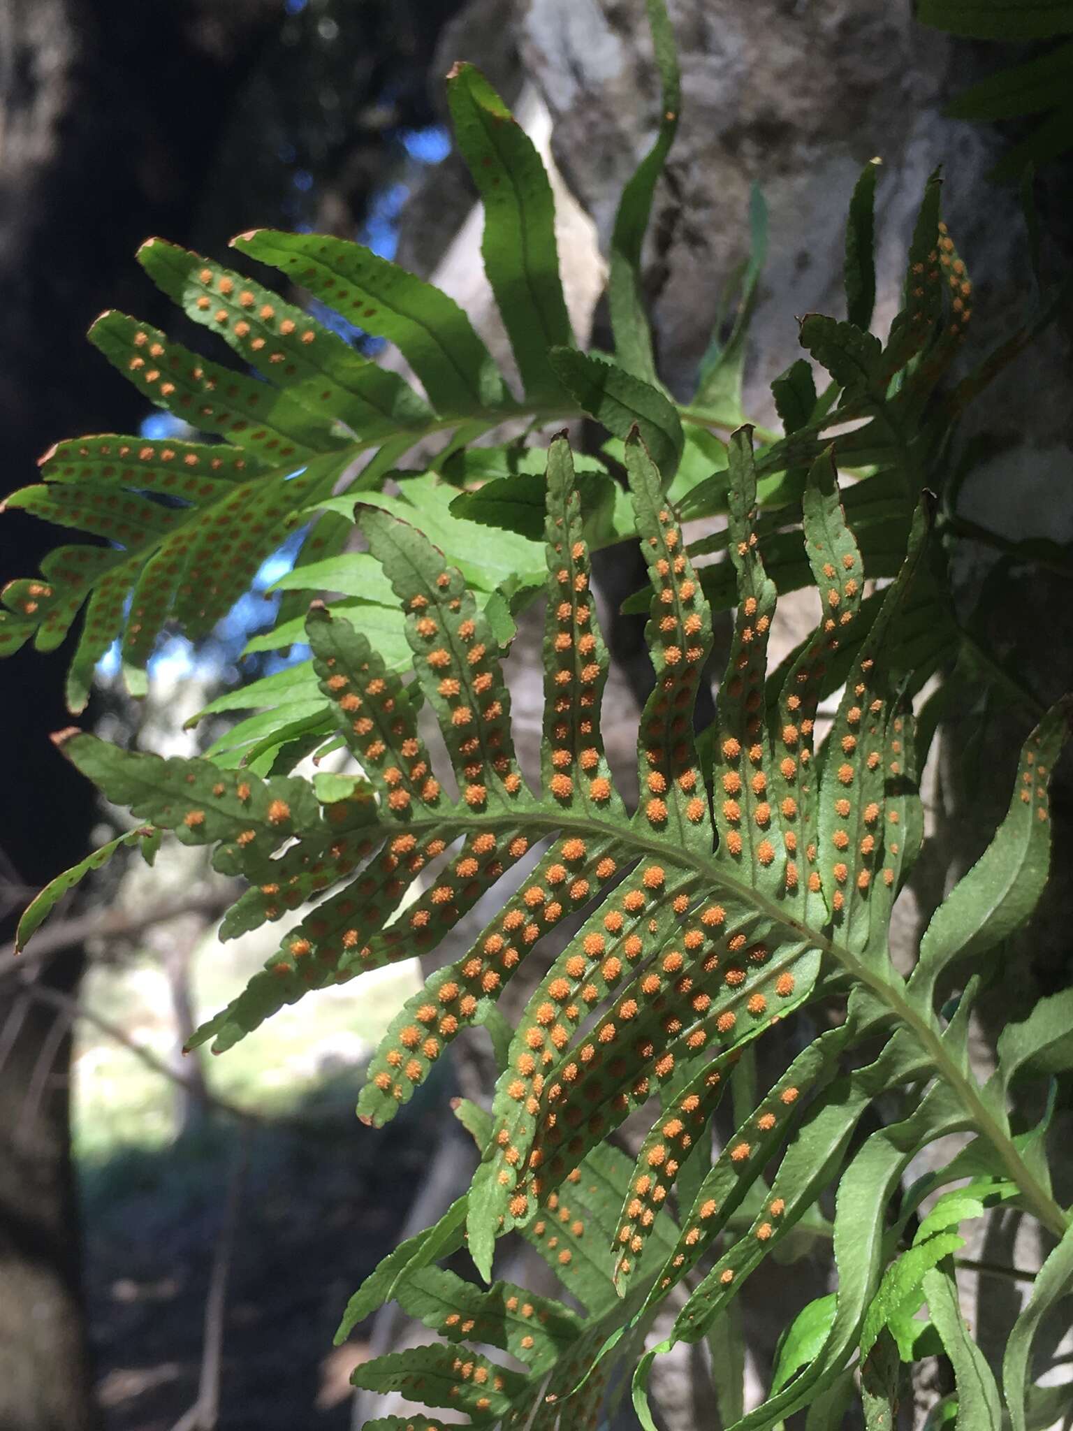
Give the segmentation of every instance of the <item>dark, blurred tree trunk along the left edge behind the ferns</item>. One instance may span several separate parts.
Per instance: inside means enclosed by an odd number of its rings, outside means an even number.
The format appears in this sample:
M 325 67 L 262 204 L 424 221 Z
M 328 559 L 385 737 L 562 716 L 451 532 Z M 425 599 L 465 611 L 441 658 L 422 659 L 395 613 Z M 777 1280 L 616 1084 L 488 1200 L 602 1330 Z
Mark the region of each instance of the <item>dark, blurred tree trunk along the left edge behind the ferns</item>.
M 143 405 L 84 341 L 104 306 L 163 309 L 133 263 L 165 230 L 192 236 L 227 110 L 282 13 L 276 0 L 0 4 L 0 432 L 3 488 L 34 481 L 57 438 L 136 425 Z M 237 226 L 237 225 L 236 225 Z M 0 522 L 4 580 L 31 575 L 56 532 Z M 56 753 L 67 651 L 4 664 L 3 844 L 23 886 L 89 847 L 92 787 Z M 11 902 L 14 903 L 14 902 Z M 24 903 L 24 900 L 23 900 Z M 0 942 L 14 929 L 0 924 Z M 80 952 L 40 973 L 77 990 Z M 0 1428 L 96 1425 L 70 1158 L 70 1029 L 0 970 Z

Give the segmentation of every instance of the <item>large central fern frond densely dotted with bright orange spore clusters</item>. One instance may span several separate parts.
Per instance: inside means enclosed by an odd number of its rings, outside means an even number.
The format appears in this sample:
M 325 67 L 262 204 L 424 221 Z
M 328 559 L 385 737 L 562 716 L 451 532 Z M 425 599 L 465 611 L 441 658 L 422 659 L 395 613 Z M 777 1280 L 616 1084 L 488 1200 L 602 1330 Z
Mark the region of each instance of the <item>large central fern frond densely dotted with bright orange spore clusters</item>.
M 1000 1045 L 996 1085 L 979 1089 L 966 1040 L 973 989 L 946 1027 L 931 997 L 940 970 L 983 947 L 984 924 L 1001 932 L 1039 896 L 1049 844 L 1046 778 L 1066 717 L 1056 710 L 1030 738 L 1027 780 L 1020 783 L 1029 798 L 1019 790 L 996 837 L 999 853 L 989 851 L 966 876 L 964 894 L 951 896 L 949 907 L 957 909 L 993 890 L 981 932 L 970 933 L 969 943 L 951 942 L 943 934 L 949 916 L 937 916 L 917 973 L 900 980 L 886 956 L 887 926 L 918 844 L 918 800 L 913 717 L 903 697 L 907 673 L 891 633 L 921 565 L 927 508 L 917 512 L 903 570 L 866 622 L 860 548 L 830 454 L 815 459 L 803 518 L 820 622 L 773 684 L 765 653 L 775 590 L 755 539 L 753 444 L 748 431 L 731 438 L 728 551 L 737 615 L 705 768 L 692 711 L 711 648 L 708 605 L 637 432 L 624 455 L 652 587 L 647 638 L 655 667 L 641 714 L 641 801 L 632 814 L 601 744 L 607 650 L 565 438 L 552 442 L 547 471 L 539 791 L 518 770 L 509 694 L 486 612 L 428 538 L 381 505 L 363 507 L 359 519 L 402 608 L 413 683 L 322 602 L 306 620 L 319 691 L 362 780 L 263 780 L 210 761 L 119 751 L 90 736 L 72 737 L 64 750 L 110 798 L 186 843 L 215 844 L 216 866 L 245 876 L 250 889 L 225 932 L 319 900 L 285 934 L 266 970 L 197 1032 L 195 1043 L 213 1039 L 217 1050 L 312 987 L 415 952 L 431 954 L 511 866 L 548 841 L 472 946 L 401 1010 L 371 1063 L 359 1110 L 382 1123 L 462 1029 L 489 1017 L 542 937 L 568 914 L 582 916 L 509 1039 L 491 1115 L 466 1113 L 482 1146 L 469 1195 L 439 1232 L 392 1254 L 369 1295 L 398 1296 L 451 1341 L 469 1335 L 464 1328 L 471 1324 L 472 1337 L 488 1345 L 532 1352 L 532 1377 L 549 1377 L 559 1388 L 549 1394 L 579 1408 L 602 1394 L 609 1361 L 644 1337 L 660 1304 L 735 1226 L 743 1206 L 751 1225 L 715 1251 L 667 1345 L 705 1335 L 837 1178 L 834 1315 L 808 1367 L 740 1421 L 740 1431 L 760 1431 L 843 1375 L 880 1286 L 887 1203 L 923 1146 L 951 1130 L 977 1132 L 1026 1206 L 1059 1216 L 1009 1130 L 1004 1105 L 1007 1082 L 1021 1065 L 1066 1060 L 1064 1005 L 1040 1010 L 1011 1033 Z M 858 625 L 866 630 L 854 641 Z M 840 667 L 844 691 L 817 747 L 817 703 L 843 644 L 853 651 Z M 433 768 L 416 723 L 418 694 L 438 720 L 451 773 Z M 996 883 L 993 871 L 1004 869 L 1010 850 L 1020 851 L 1030 880 L 1003 876 Z M 957 929 L 966 927 L 959 917 Z M 824 970 L 837 977 L 820 979 Z M 675 1229 L 667 1206 L 731 1068 L 773 1023 L 827 997 L 840 980 L 851 989 L 844 1023 L 810 1043 L 758 1098 L 711 1169 L 691 1182 Z M 867 1066 L 841 1073 L 843 1055 L 864 1039 L 886 1046 Z M 936 1072 L 908 1118 L 848 1156 L 857 1122 L 880 1090 Z M 661 1110 L 637 1162 L 631 1168 L 614 1155 L 615 1166 L 604 1168 L 607 1136 L 657 1092 Z M 780 1155 L 767 1189 L 761 1171 Z M 465 1235 L 469 1255 L 489 1276 L 495 1242 L 511 1229 L 588 1308 L 581 1331 L 565 1311 L 545 1309 L 545 1328 L 562 1335 L 532 1334 L 524 1347 L 508 1305 L 519 1292 L 502 1284 L 482 1292 L 432 1269 Z M 345 1325 L 368 1309 L 365 1296 Z M 635 1379 L 645 1421 L 648 1367 L 661 1349 L 645 1354 Z M 381 1358 L 358 1377 L 373 1388 L 419 1392 L 431 1405 L 448 1397 L 442 1404 L 478 1418 L 518 1414 L 535 1395 L 531 1378 L 449 1347 L 425 1348 L 405 1367 Z

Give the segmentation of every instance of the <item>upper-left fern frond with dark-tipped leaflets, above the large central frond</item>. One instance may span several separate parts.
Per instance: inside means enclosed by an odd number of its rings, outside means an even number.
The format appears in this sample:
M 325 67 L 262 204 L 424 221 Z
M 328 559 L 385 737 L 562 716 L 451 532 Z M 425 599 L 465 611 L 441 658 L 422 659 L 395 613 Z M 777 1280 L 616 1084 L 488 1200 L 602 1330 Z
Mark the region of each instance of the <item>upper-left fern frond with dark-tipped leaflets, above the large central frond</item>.
M 395 342 L 423 396 L 246 275 L 149 239 L 137 255 L 146 272 L 266 382 L 124 313 L 104 313 L 90 329 L 90 341 L 149 402 L 192 434 L 222 441 L 72 439 L 41 459 L 43 487 L 7 499 L 117 548 L 82 557 L 64 548 L 47 558 L 40 580 L 6 588 L 0 654 L 30 638 L 53 648 L 86 604 L 67 691 L 72 710 L 83 708 L 93 667 L 116 638 L 127 683 L 143 694 L 163 627 L 173 620 L 187 635 L 203 635 L 290 532 L 313 522 L 299 565 L 342 551 L 353 529 L 352 504 L 345 521 L 320 515 L 340 485 L 379 487 L 409 448 L 439 432 L 468 442 L 509 418 L 577 412 L 547 358 L 572 335 L 539 156 L 476 70 L 459 70 L 451 93 L 459 143 L 485 200 L 488 272 L 526 398 L 511 395 L 458 305 L 359 245 L 275 232 L 235 240 L 348 323 Z M 292 614 L 285 610 L 283 621 Z

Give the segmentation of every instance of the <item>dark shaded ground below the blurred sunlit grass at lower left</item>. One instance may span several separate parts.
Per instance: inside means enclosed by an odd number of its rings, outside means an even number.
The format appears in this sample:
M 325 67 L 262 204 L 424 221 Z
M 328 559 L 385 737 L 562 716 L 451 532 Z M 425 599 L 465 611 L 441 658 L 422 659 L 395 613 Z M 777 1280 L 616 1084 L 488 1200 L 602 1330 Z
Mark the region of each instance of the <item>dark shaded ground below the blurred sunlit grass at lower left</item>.
M 373 1129 L 353 1115 L 361 1083 L 349 1068 L 286 1119 L 246 1130 L 212 1115 L 169 1148 L 130 1148 L 83 1168 L 89 1318 L 109 1431 L 170 1431 L 196 1400 L 212 1265 L 243 1156 L 220 1424 L 349 1425 L 348 1378 L 368 1327 L 336 1351 L 332 1337 L 396 1241 L 455 1092 L 444 1063 Z

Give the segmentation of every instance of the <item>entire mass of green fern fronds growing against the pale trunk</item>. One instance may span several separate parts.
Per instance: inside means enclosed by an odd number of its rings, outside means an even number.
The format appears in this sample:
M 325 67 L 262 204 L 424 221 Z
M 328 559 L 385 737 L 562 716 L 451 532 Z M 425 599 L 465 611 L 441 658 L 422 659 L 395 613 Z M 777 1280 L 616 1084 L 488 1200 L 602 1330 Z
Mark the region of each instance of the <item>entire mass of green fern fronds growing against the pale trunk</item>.
M 886 339 L 868 332 L 870 166 L 850 209 L 850 321 L 801 322 L 813 362 L 773 384 L 783 434 L 743 421 L 758 202 L 737 316 L 715 335 L 691 399 L 675 402 L 658 379 L 640 282 L 677 112 L 665 16 L 655 0 L 651 9 L 665 119 L 615 225 L 614 358 L 572 343 L 551 189 L 532 145 L 486 82 L 456 67 L 452 114 L 485 202 L 485 268 L 524 394 L 449 299 L 355 245 L 235 240 L 389 338 L 423 396 L 240 272 L 153 240 L 140 253 L 150 276 L 269 382 L 134 319 L 100 319 L 93 341 L 147 396 L 223 441 L 60 444 L 44 484 L 11 505 L 112 545 L 60 548 L 40 578 L 13 582 L 0 637 L 9 648 L 30 638 L 49 648 L 87 602 L 72 708 L 117 633 L 137 691 L 165 622 L 207 631 L 280 537 L 308 527 L 275 644 L 305 641 L 309 658 L 209 707 L 258 714 L 202 758 L 77 731 L 60 744 L 110 801 L 210 847 L 215 867 L 243 880 L 222 937 L 282 924 L 265 967 L 195 1046 L 230 1050 L 302 1000 L 330 1010 L 315 992 L 441 947 L 444 966 L 405 1000 L 369 1063 L 361 1118 L 393 1118 L 464 1029 L 486 1025 L 492 1036 L 491 1110 L 458 1109 L 481 1149 L 471 1189 L 385 1258 L 339 1332 L 395 1298 L 436 1339 L 359 1365 L 358 1385 L 482 1425 L 544 1431 L 595 1425 L 625 1372 L 651 1428 L 654 1358 L 675 1342 L 718 1339 L 757 1266 L 798 1255 L 797 1228 L 831 1239 L 837 1289 L 787 1328 L 761 1407 L 743 1414 L 740 1388 L 725 1390 L 725 1405 L 738 1402 L 733 1431 L 764 1431 L 810 1407 L 834 1415 L 856 1365 L 878 1425 L 904 1364 L 937 1351 L 951 1367 L 959 1425 L 1009 1415 L 1021 1431 L 1052 1411 L 1030 1354 L 1069 1289 L 1073 1232 L 1047 1161 L 1053 1099 L 1024 1128 L 1013 1090 L 1073 1066 L 1073 990 L 1009 1025 L 987 1082 L 970 1065 L 969 1033 L 994 952 L 1032 917 L 1047 879 L 1049 781 L 1069 707 L 1036 710 L 961 631 L 946 582 L 959 531 L 946 474 L 964 408 L 1047 311 L 951 376 L 971 282 L 933 177 L 903 308 Z M 575 459 L 564 435 L 545 432 L 581 414 L 608 439 Z M 474 445 L 505 422 L 516 431 L 518 419 L 521 436 Z M 451 435 L 421 469 L 399 465 L 438 432 Z M 366 461 L 353 475 L 356 458 Z M 183 505 L 162 505 L 159 492 Z M 694 539 L 684 524 L 700 518 L 722 521 Z M 352 554 L 355 527 L 368 550 Z M 640 542 L 651 585 L 628 602 L 648 611 L 655 671 L 635 810 L 615 787 L 599 727 L 608 653 L 592 552 L 617 542 Z M 770 670 L 778 597 L 805 587 L 815 630 Z M 532 790 L 515 757 L 502 657 L 515 617 L 541 600 L 545 713 Z M 712 611 L 730 608 L 715 718 L 695 730 Z M 1026 736 L 1009 813 L 931 913 L 906 976 L 888 929 L 923 839 L 917 774 L 941 720 L 921 698 L 933 675 L 944 678 L 943 698 L 957 681 L 990 684 L 1026 717 Z M 834 714 L 821 721 L 823 701 Z M 426 744 L 432 717 L 445 760 Z M 338 750 L 352 773 L 293 773 L 308 754 Z M 525 879 L 499 887 L 536 850 Z M 452 932 L 499 889 L 495 914 L 459 949 Z M 27 927 L 59 893 L 40 896 Z M 502 989 L 567 920 L 568 943 L 511 1027 Z M 330 1027 L 330 1012 L 322 1017 Z M 764 1086 L 754 1052 L 780 1025 L 793 1039 L 778 1045 L 784 1066 Z M 270 1039 L 263 1047 L 280 1063 Z M 728 1089 L 737 1128 L 712 1155 L 711 1120 Z M 612 1135 L 642 1109 L 650 1132 L 631 1158 Z M 906 1188 L 913 1159 L 951 1133 L 967 1135 L 961 1151 Z M 1003 1367 L 991 1368 L 960 1311 L 956 1254 L 960 1229 L 999 1202 L 1036 1218 L 1054 1251 L 1010 1327 Z M 495 1278 L 498 1241 L 511 1234 L 547 1259 L 581 1311 Z M 471 1279 L 439 1265 L 464 1245 Z M 682 1284 L 670 1335 L 647 1347 Z

